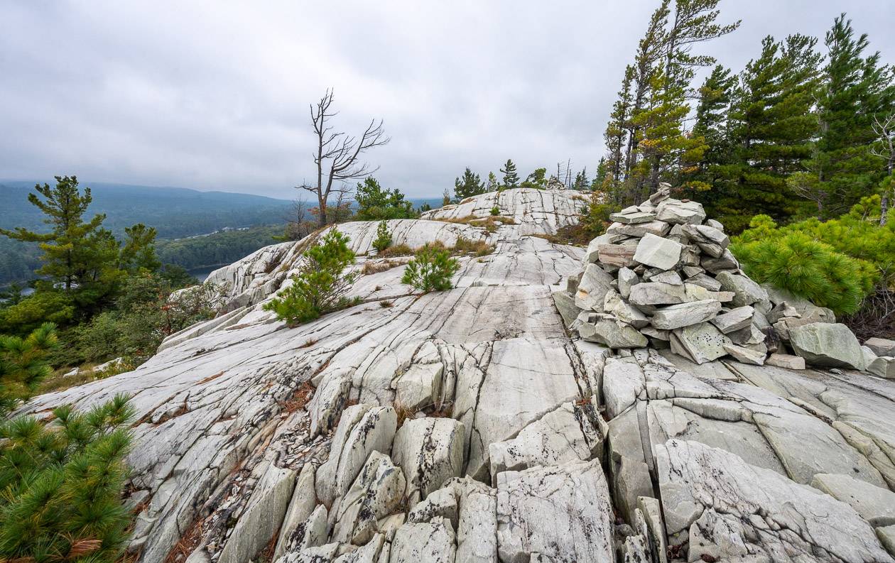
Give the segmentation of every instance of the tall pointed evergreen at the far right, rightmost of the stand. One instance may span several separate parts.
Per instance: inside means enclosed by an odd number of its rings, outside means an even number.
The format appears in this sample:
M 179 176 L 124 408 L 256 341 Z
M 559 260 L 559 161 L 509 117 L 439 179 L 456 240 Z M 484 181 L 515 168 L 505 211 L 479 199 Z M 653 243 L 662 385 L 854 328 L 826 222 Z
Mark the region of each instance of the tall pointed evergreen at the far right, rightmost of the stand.
M 869 195 L 884 174 L 874 158 L 874 116 L 895 102 L 892 69 L 880 54 L 864 56 L 867 36 L 855 38 L 851 21 L 841 14 L 826 34 L 827 63 L 817 95 L 817 141 L 805 172 L 789 185 L 814 202 L 817 217 L 840 215 Z

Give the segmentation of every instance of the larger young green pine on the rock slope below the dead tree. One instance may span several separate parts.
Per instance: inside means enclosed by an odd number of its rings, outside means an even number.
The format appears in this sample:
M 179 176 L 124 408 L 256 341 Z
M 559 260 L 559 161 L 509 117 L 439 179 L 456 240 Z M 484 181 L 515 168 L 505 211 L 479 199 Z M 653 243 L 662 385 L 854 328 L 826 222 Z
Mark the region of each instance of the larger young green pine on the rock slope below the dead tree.
M 303 264 L 292 277 L 292 285 L 264 308 L 294 326 L 354 303 L 345 297 L 357 278 L 356 272 L 344 273 L 345 268 L 354 264 L 354 252 L 348 248 L 348 241 L 346 235 L 331 229 L 304 253 Z

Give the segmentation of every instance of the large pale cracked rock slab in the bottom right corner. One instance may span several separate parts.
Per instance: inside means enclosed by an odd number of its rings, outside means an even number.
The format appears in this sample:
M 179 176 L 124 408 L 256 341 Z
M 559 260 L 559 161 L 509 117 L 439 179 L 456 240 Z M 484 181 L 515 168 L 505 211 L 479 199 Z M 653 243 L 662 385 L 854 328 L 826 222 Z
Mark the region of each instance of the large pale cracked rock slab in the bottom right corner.
M 830 495 L 699 442 L 653 448 L 669 542 L 687 537 L 689 560 L 892 561 L 871 525 Z

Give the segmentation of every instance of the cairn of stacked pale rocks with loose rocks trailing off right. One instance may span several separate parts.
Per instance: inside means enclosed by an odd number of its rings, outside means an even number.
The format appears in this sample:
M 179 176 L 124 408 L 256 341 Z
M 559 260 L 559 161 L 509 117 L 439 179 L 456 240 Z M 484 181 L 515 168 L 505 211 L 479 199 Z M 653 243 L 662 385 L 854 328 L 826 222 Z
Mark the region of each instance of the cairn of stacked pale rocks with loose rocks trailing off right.
M 584 270 L 554 294 L 570 328 L 612 348 L 667 348 L 695 363 L 730 355 L 742 363 L 865 370 L 895 363 L 862 349 L 832 311 L 765 288 L 728 250 L 724 226 L 695 201 L 670 197 L 669 184 L 641 205 L 610 216 Z M 795 354 L 783 354 L 783 343 Z M 768 353 L 771 357 L 768 358 Z M 873 357 L 871 357 L 873 356 Z

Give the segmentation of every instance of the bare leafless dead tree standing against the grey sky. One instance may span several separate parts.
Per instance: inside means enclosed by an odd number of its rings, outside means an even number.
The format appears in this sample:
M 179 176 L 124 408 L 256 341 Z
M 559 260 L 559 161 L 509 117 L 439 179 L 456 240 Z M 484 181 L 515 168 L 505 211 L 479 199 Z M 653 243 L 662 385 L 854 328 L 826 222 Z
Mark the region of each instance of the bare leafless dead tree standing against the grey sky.
M 379 169 L 379 166 L 371 168 L 363 162 L 362 154 L 391 141 L 382 128 L 382 121 L 377 123 L 375 119 L 371 120 L 360 137 L 333 132 L 329 120 L 337 112 L 330 111 L 332 103 L 333 90 L 330 89 L 317 104 L 311 105 L 311 125 L 317 135 L 317 149 L 313 154 L 314 164 L 317 165 L 317 183 L 298 186 L 317 196 L 320 226 L 328 223 L 327 202 L 332 193 L 338 194 L 339 201 L 344 200 L 345 195 L 351 192 L 348 185 L 350 180 L 365 178 Z

